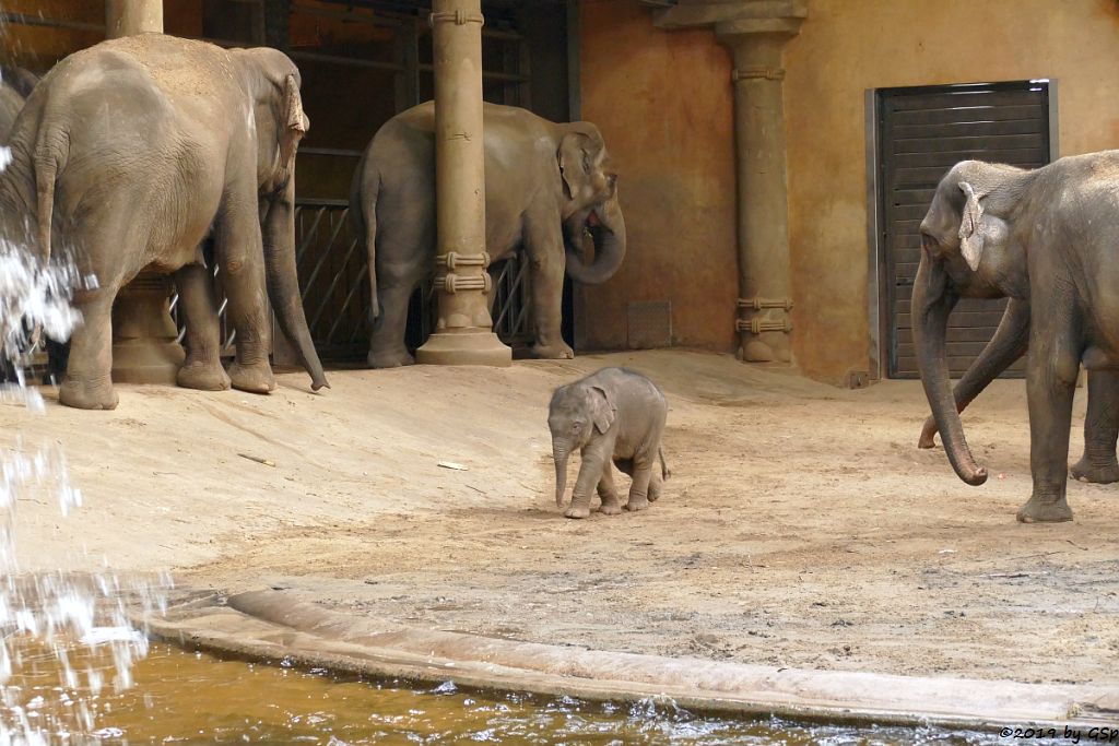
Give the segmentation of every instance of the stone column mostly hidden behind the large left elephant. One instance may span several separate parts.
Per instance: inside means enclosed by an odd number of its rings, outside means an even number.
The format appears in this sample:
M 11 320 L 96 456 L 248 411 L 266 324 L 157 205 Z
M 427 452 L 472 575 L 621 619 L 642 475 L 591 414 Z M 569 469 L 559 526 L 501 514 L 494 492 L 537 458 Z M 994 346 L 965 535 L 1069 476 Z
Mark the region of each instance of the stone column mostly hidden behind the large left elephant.
M 110 38 L 163 32 L 162 0 L 105 0 Z M 142 271 L 122 287 L 113 304 L 113 380 L 119 384 L 175 384 L 182 347 L 171 320 L 171 278 Z

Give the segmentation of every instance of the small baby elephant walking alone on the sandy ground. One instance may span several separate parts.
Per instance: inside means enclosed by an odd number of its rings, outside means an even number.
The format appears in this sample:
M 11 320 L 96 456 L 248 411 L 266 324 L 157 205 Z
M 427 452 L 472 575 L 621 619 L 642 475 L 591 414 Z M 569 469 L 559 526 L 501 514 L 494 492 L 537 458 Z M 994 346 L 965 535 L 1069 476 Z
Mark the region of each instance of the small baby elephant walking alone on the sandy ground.
M 595 488 L 602 499 L 602 512 L 617 516 L 622 511 L 611 461 L 633 478 L 627 510 L 643 510 L 656 501 L 662 480 L 669 475 L 660 451 L 667 416 L 665 395 L 651 380 L 632 370 L 603 368 L 557 388 L 548 405 L 557 508 L 563 507 L 567 456 L 575 448 L 582 454 L 571 507 L 564 516 L 590 516 L 591 493 Z

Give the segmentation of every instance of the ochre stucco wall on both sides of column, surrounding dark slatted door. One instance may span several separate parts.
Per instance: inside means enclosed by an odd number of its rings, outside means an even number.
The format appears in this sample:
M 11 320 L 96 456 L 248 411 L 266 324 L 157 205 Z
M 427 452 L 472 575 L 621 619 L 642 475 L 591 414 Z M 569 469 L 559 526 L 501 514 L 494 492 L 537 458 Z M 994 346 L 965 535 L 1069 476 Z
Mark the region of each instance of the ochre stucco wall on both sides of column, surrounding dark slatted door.
M 621 172 L 631 255 L 587 289 L 585 341 L 626 346 L 626 304 L 673 301 L 676 342 L 733 349 L 733 96 L 711 31 L 636 0 L 584 2 L 584 119 Z M 997 29 L 997 32 L 993 30 Z M 865 92 L 1055 78 L 1060 149 L 1119 148 L 1115 0 L 809 0 L 786 49 L 793 352 L 817 379 L 868 370 Z

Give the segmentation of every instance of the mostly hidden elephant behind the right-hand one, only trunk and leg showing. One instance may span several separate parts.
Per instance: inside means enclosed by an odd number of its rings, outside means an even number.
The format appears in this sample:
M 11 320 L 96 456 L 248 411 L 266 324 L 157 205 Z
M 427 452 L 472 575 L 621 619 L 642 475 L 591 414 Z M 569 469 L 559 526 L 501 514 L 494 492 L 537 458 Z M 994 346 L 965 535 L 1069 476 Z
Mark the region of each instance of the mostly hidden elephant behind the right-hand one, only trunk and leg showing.
M 1029 331 L 1029 306 L 1023 300 L 1012 300 L 1003 314 L 995 336 L 975 362 L 963 372 L 952 389 L 956 410 L 962 413 L 993 380 L 1026 353 Z M 1069 469 L 1073 479 L 1097 484 L 1119 482 L 1116 442 L 1119 440 L 1119 385 L 1111 370 L 1088 374 L 1088 415 L 1084 417 L 1084 454 Z M 919 448 L 935 445 L 937 418 L 929 415 L 918 441 Z

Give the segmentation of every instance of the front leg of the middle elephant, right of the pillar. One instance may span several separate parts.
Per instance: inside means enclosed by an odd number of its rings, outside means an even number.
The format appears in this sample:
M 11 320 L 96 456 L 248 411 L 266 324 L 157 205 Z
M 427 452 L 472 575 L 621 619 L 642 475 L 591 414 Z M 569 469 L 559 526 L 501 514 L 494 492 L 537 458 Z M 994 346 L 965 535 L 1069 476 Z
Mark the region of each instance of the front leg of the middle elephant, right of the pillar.
M 563 341 L 563 232 L 557 216 L 529 214 L 525 219 L 525 247 L 533 290 L 533 355 L 548 360 L 570 360 L 575 352 Z

